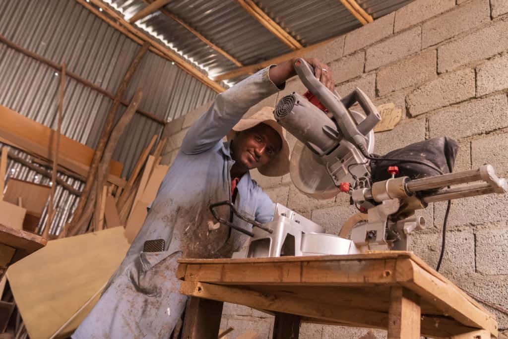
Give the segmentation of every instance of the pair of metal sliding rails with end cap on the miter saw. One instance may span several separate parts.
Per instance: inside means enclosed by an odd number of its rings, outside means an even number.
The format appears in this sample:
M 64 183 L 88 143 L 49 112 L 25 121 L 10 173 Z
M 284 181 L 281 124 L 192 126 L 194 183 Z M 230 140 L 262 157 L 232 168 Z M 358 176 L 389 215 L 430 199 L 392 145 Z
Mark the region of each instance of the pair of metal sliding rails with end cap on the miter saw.
M 483 181 L 481 183 L 474 183 Z M 422 200 L 430 202 L 465 198 L 474 195 L 508 192 L 506 179 L 498 178 L 492 165 L 483 165 L 469 171 L 443 174 L 435 177 L 415 179 L 405 184 L 409 193 L 417 193 L 435 188 L 451 185 L 467 184 L 459 187 L 451 187 L 428 195 L 423 195 Z

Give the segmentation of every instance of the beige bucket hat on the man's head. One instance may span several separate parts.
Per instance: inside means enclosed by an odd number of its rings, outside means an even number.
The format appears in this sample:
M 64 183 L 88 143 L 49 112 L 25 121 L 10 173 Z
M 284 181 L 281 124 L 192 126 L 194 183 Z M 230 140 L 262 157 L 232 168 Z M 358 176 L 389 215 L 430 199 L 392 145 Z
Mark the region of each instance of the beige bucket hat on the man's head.
M 242 130 L 249 129 L 260 123 L 267 124 L 279 133 L 282 139 L 282 148 L 277 155 L 271 159 L 267 164 L 258 168 L 259 173 L 267 177 L 280 177 L 289 173 L 289 156 L 290 149 L 288 140 L 285 137 L 285 129 L 273 117 L 272 107 L 263 107 L 261 110 L 251 115 L 247 119 L 240 120 L 233 129 L 228 133 L 228 140 L 233 140 L 236 133 Z

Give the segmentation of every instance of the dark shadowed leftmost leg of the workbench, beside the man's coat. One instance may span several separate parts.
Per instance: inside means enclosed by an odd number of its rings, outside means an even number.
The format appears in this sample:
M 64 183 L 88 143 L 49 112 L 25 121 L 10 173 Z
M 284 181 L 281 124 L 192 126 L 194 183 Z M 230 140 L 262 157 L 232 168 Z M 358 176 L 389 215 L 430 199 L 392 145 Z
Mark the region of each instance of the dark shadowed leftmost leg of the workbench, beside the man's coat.
M 182 339 L 217 339 L 224 302 L 190 297 L 185 309 Z

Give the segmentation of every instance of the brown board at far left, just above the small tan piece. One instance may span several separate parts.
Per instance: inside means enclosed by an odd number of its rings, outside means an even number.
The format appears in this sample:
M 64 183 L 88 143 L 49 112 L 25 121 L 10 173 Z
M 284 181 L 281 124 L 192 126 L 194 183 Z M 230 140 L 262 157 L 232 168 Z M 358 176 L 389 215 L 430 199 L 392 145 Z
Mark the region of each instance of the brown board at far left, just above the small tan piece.
M 27 213 L 41 216 L 48 201 L 51 188 L 16 178 L 10 178 L 5 192 L 5 201 L 17 204 L 18 198 L 23 199 Z

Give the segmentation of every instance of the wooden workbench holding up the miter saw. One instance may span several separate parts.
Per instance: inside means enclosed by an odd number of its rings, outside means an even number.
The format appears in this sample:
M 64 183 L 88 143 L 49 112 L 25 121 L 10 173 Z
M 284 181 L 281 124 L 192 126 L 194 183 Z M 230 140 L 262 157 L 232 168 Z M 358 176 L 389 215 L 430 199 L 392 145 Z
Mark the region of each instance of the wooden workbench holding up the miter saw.
M 216 338 L 223 302 L 275 314 L 274 338 L 297 338 L 300 321 L 385 328 L 389 339 L 498 333 L 492 314 L 411 252 L 179 263 L 180 292 L 193 296 L 184 338 Z

